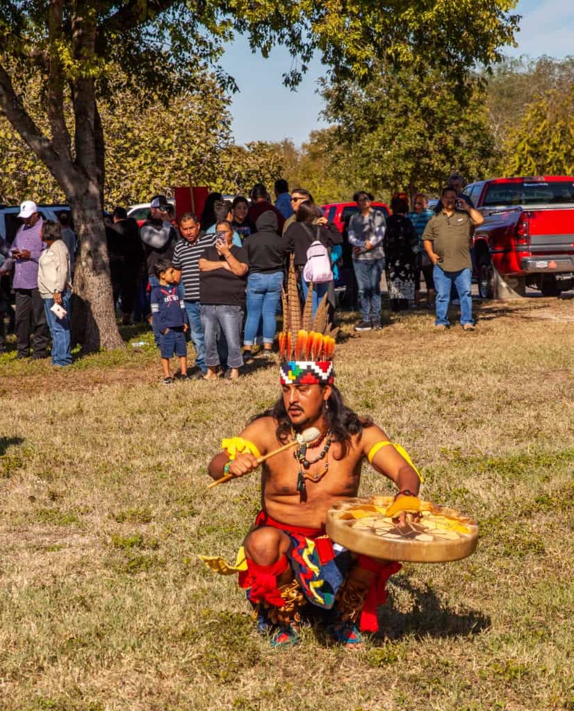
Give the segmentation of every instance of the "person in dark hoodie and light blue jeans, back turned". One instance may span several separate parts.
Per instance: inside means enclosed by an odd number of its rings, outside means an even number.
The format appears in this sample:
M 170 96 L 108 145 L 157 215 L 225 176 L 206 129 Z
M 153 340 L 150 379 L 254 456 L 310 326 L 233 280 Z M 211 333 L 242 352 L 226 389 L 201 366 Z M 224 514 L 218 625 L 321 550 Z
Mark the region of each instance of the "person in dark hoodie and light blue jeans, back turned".
M 265 210 L 255 222 L 257 232 L 245 237 L 243 247 L 248 255 L 247 320 L 243 338 L 243 360 L 251 358 L 260 321 L 263 321 L 263 355 L 272 354 L 277 329 L 277 306 L 281 298 L 283 265 L 287 240 L 280 237 L 279 220 L 273 210 Z

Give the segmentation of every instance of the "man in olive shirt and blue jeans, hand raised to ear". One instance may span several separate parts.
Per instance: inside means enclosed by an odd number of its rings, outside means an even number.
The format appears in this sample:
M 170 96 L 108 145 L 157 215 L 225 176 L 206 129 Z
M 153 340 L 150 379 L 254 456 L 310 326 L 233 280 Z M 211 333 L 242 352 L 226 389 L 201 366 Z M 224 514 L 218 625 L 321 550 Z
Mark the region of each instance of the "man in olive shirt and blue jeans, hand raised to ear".
M 470 240 L 472 225 L 482 225 L 484 218 L 467 202 L 457 198 L 453 188 L 442 191 L 442 210 L 433 215 L 422 233 L 422 245 L 434 264 L 432 277 L 437 289 L 435 326 L 447 328 L 448 305 L 452 284 L 460 299 L 460 323 L 464 331 L 474 331 L 472 319 L 472 262 Z

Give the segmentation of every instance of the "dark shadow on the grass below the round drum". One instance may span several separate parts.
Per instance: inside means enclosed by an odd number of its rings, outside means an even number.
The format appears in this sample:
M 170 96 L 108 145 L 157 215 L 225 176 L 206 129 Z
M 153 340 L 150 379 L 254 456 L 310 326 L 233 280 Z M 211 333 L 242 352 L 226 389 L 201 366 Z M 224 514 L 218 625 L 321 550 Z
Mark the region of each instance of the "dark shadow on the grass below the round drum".
M 489 616 L 477 610 L 455 611 L 440 602 L 430 585 L 424 589 L 413 587 L 408 579 L 393 580 L 396 587 L 406 590 L 413 597 L 413 610 L 400 612 L 389 602 L 378 614 L 379 629 L 375 639 L 399 640 L 403 636 L 422 637 L 468 637 L 479 634 L 491 625 Z M 392 593 L 392 589 L 389 590 Z

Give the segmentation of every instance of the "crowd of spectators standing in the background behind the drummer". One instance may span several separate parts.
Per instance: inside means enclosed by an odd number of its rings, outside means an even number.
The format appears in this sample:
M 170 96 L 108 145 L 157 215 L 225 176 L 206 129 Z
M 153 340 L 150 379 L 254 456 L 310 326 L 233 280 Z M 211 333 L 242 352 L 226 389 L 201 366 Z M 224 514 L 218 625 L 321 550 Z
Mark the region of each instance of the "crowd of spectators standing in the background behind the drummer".
M 422 306 L 422 277 L 427 308 L 435 308 L 437 293 L 437 327 L 449 325 L 447 307 L 458 295 L 461 323 L 465 330 L 474 328 L 469 237 L 482 216 L 461 190 L 462 179 L 452 176 L 434 213 L 423 193 L 414 196 L 412 210 L 408 198 L 398 194 L 388 218 L 373 207 L 370 193 L 354 195 L 358 209 L 346 225 L 346 237 L 361 314 L 356 331 L 381 328 L 383 272 L 392 311 Z M 7 313 L 16 333 L 17 358 L 46 358 L 49 333 L 52 363 L 69 365 L 77 248 L 69 215 L 59 215 L 59 223 L 43 220 L 36 204 L 24 201 L 18 217 L 22 225 L 13 244 L 0 242 L 0 351 Z M 313 311 L 325 295 L 330 308 L 336 309 L 344 237 L 326 220 L 309 191 L 294 188 L 289 194 L 285 180 L 275 183 L 275 201 L 257 183 L 249 199 L 237 196 L 230 202 L 211 193 L 201 217 L 188 212 L 179 220 L 166 197 L 156 195 L 141 227 L 117 206 L 105 216 L 105 233 L 113 298 L 122 324 L 147 319 L 152 325 L 166 384 L 173 382 L 169 363 L 174 355 L 179 358 L 176 375 L 189 377 L 190 342 L 196 356 L 190 373 L 194 378 L 238 378 L 257 343 L 262 355 L 272 358 L 291 257 L 301 298 L 307 298 L 313 282 Z M 452 288 L 457 294 L 451 294 Z

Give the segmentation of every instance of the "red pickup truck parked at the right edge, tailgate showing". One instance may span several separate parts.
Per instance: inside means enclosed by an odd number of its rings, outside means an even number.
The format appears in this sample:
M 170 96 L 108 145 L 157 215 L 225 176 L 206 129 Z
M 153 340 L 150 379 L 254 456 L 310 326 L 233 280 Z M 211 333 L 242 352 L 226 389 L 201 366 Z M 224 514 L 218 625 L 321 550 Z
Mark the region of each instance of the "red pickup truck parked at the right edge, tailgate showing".
M 464 188 L 484 223 L 474 232 L 479 294 L 498 296 L 497 274 L 514 292 L 558 296 L 574 287 L 574 178 L 496 178 Z

